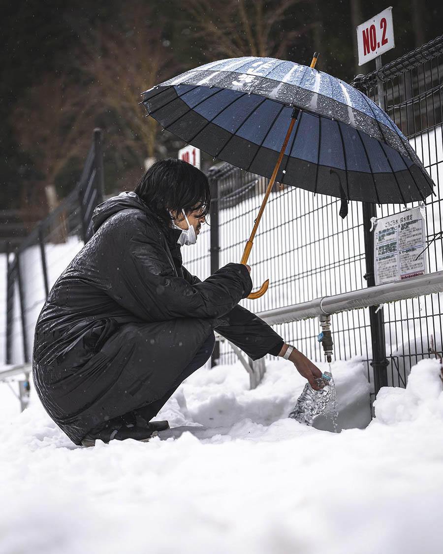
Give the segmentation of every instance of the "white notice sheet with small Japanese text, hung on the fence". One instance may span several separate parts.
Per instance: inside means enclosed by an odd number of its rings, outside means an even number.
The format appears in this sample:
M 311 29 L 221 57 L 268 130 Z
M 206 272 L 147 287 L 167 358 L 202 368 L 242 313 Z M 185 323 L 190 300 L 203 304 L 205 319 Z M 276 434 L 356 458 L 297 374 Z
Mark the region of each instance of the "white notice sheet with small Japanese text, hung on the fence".
M 377 219 L 374 232 L 375 284 L 427 273 L 425 220 L 420 208 Z

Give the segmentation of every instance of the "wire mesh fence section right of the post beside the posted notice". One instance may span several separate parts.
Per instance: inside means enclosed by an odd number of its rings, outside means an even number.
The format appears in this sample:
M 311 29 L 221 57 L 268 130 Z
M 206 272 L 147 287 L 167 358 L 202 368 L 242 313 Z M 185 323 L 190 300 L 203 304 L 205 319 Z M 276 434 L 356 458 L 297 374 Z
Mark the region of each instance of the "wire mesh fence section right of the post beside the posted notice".
M 437 37 L 398 61 L 396 73 L 393 73 L 392 64 L 378 72 L 384 96 L 380 102 L 408 137 L 436 185 L 435 196 L 426 200 L 426 256 L 429 271 L 439 271 L 443 269 L 443 38 Z M 369 98 L 378 102 L 374 78 L 368 79 L 365 86 Z M 415 206 L 419 203 L 408 204 L 408 207 Z M 398 204 L 381 206 L 378 217 L 402 209 L 404 207 Z M 435 350 L 441 352 L 441 300 L 441 295 L 431 295 L 385 306 L 388 371 L 394 384 L 405 386 L 410 367 L 429 356 L 432 338 Z

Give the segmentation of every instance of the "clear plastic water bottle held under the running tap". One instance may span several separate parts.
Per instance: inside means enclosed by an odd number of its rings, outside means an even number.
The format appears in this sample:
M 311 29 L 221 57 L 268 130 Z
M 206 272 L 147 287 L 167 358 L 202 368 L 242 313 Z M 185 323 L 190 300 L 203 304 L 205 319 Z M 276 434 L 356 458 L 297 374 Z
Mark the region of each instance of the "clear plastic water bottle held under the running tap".
M 289 417 L 306 425 L 312 425 L 313 419 L 326 411 L 334 391 L 332 373 L 325 371 L 321 377 L 316 378 L 316 381 L 322 388 L 315 391 L 309 383 L 306 383 L 295 408 L 289 414 Z

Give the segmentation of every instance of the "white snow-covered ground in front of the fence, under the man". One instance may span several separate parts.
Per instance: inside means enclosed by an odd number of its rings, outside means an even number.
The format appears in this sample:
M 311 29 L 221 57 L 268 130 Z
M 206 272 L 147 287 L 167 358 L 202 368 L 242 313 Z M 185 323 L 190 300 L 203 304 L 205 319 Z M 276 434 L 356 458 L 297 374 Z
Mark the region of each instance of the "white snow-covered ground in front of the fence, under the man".
M 339 434 L 286 415 L 305 381 L 269 363 L 199 370 L 159 414 L 223 427 L 210 439 L 75 447 L 38 399 L 0 398 L 0 552 L 441 552 L 443 392 L 436 360 L 384 388 L 376 418 Z M 343 427 L 364 427 L 368 383 L 336 362 Z

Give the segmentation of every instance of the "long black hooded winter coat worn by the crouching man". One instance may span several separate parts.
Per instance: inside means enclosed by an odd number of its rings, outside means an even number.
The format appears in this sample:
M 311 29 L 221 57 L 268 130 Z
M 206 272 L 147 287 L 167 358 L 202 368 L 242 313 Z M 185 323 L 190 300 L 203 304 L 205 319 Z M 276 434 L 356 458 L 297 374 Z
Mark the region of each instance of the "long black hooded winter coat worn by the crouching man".
M 80 444 L 100 423 L 156 401 L 214 328 L 256 360 L 282 343 L 238 306 L 241 264 L 201 282 L 182 266 L 180 231 L 135 193 L 96 208 L 94 235 L 50 291 L 35 327 L 34 383 L 50 417 Z

